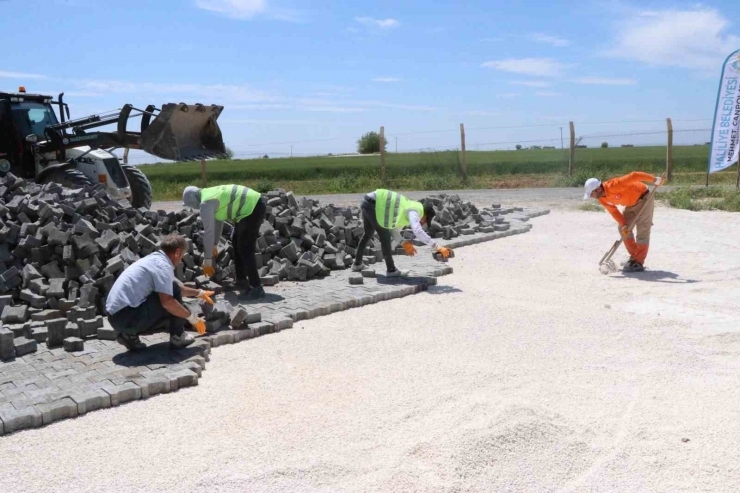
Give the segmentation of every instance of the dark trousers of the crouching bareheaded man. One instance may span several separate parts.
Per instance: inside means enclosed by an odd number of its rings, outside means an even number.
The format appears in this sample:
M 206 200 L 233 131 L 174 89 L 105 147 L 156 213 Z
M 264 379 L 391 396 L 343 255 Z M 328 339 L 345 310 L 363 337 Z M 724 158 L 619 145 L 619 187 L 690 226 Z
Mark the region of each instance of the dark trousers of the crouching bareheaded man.
M 172 283 L 172 297 L 182 303 L 182 290 L 176 282 Z M 137 307 L 122 308 L 108 317 L 108 321 L 116 332 L 124 334 L 141 334 L 158 326 L 165 326 L 169 328 L 171 335 L 176 336 L 182 335 L 187 322 L 164 309 L 159 301 L 159 293 L 150 294 Z

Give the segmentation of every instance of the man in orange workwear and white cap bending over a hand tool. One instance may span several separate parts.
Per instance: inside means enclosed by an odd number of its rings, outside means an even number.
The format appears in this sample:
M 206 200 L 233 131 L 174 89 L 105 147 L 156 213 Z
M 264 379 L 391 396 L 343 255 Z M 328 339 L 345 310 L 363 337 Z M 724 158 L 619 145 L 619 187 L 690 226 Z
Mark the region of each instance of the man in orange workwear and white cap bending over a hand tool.
M 643 182 L 654 183 L 658 187 L 663 181 L 664 179 L 660 176 L 640 171 L 612 178 L 604 183 L 597 178 L 589 178 L 586 181 L 584 186 L 586 193 L 583 200 L 598 199 L 619 223 L 619 234 L 622 235 L 624 246 L 630 254 L 629 261 L 624 265 L 624 272 L 645 270 L 643 264 L 650 247 L 650 229 L 653 226 L 655 199 L 653 195 L 648 195 L 648 187 Z M 625 207 L 624 214 L 619 212 L 618 205 Z M 640 217 L 635 222 L 638 214 Z M 631 227 L 637 228 L 636 239 Z

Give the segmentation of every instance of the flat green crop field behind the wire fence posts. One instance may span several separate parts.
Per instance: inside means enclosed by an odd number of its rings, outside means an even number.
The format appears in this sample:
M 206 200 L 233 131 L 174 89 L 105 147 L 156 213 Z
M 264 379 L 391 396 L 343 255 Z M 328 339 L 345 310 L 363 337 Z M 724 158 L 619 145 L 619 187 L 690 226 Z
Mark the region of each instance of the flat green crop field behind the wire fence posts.
M 388 188 L 443 190 L 580 186 L 591 177 L 610 178 L 634 170 L 660 174 L 665 147 L 577 149 L 572 177 L 568 153 L 560 149 L 468 151 L 468 179 L 460 173 L 458 151 L 386 154 Z M 673 150 L 674 184 L 704 184 L 707 146 Z M 200 163 L 146 165 L 155 200 L 178 200 L 187 185 L 199 185 Z M 734 184 L 736 171 L 712 175 L 712 184 Z M 381 186 L 380 156 L 322 156 L 209 161 L 207 184 L 240 183 L 260 191 L 284 188 L 300 194 L 351 193 Z

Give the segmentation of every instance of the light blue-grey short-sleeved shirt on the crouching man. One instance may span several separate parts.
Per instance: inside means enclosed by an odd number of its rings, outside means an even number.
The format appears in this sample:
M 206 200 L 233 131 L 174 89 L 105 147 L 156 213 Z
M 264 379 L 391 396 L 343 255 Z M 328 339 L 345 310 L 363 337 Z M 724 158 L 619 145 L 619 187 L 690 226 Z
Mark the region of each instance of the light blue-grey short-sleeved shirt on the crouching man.
M 108 293 L 105 309 L 109 315 L 130 306 L 144 303 L 152 293 L 172 296 L 172 283 L 175 282 L 175 266 L 162 251 L 147 255 L 134 262 L 116 279 Z

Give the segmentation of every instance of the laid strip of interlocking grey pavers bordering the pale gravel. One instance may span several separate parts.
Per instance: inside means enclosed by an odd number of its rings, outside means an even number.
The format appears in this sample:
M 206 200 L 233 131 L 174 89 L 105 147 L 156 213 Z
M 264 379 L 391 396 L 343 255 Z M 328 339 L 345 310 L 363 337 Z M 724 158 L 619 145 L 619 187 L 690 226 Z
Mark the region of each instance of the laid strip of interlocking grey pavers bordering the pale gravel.
M 506 231 L 478 232 L 440 243 L 459 248 L 526 233 L 532 227 L 528 220 L 547 212 L 520 211 L 520 217 L 507 218 L 510 228 Z M 55 340 L 66 336 L 59 347 L 39 345 L 36 352 L 0 363 L 0 435 L 197 385 L 214 347 L 290 329 L 301 320 L 410 296 L 435 285 L 437 277 L 453 272 L 449 263 L 437 262 L 422 253 L 399 256 L 396 263 L 410 271 L 409 277 L 387 278 L 385 265 L 380 262 L 362 273 L 362 284 L 353 284 L 356 273 L 346 268 L 333 271 L 331 277 L 321 281 L 282 282 L 267 288 L 267 297 L 258 302 L 247 300 L 238 292 L 219 295 L 217 303 L 225 300 L 236 307 L 227 316 L 246 325 L 238 330 L 225 325 L 224 330 L 199 336 L 190 347 L 176 351 L 169 349 L 169 335 L 164 333 L 143 336 L 147 349 L 130 353 L 107 338 L 83 340 L 78 337 L 77 327 L 77 335 L 67 336 L 66 320 L 61 333 L 61 322 L 54 323 Z M 100 323 L 103 330 L 112 330 L 107 320 Z M 6 329 L 0 332 L 0 338 L 12 335 Z M 22 344 L 31 343 L 36 341 Z

